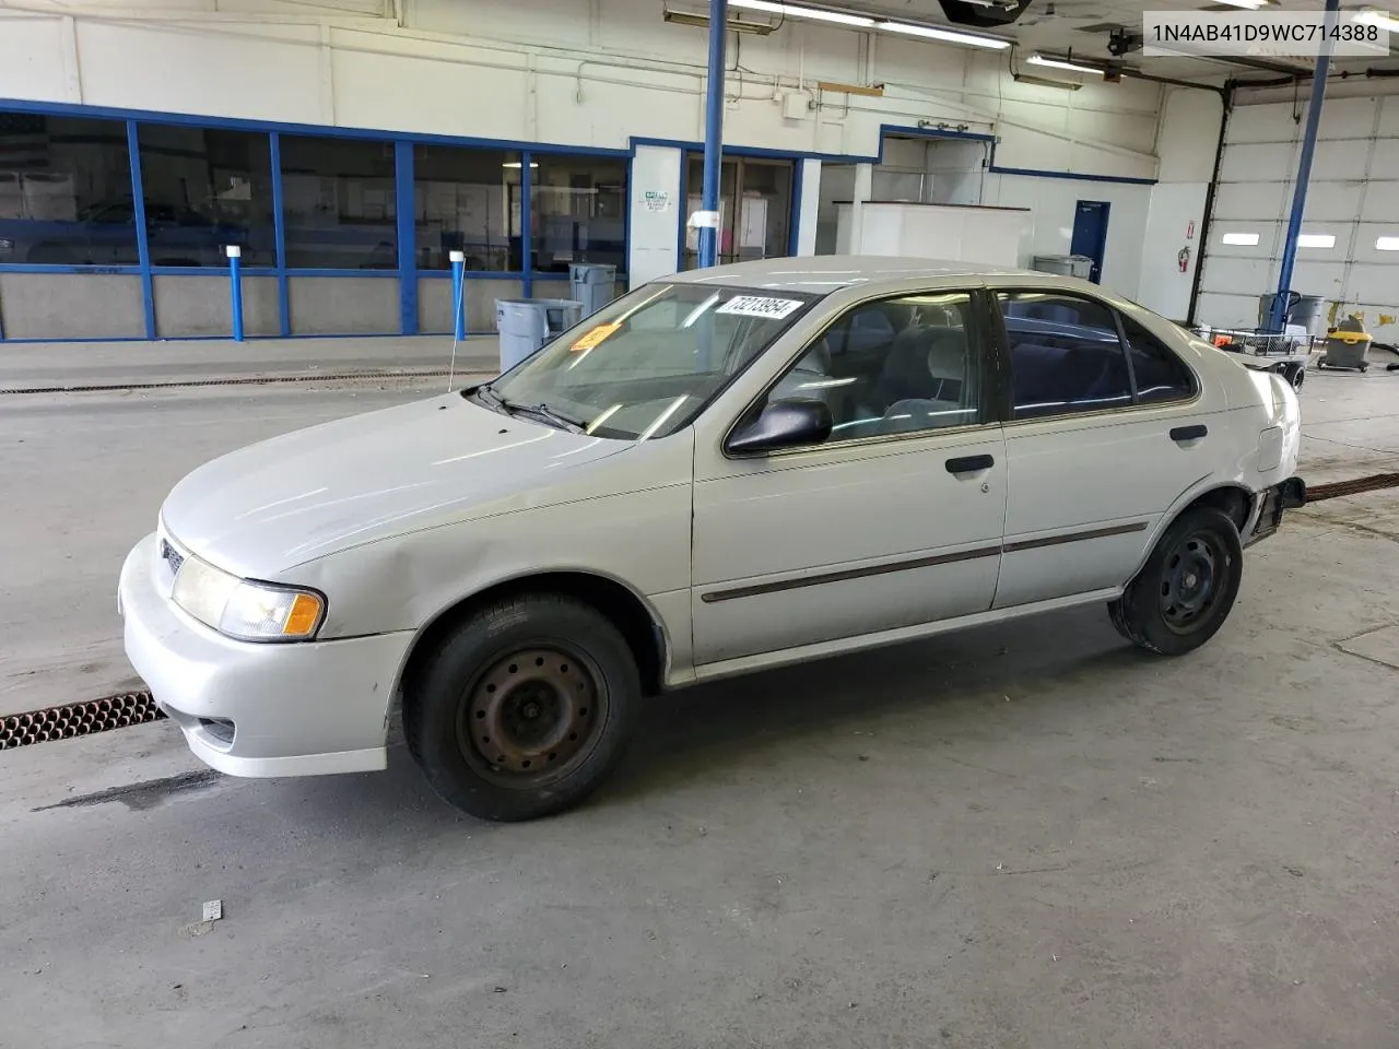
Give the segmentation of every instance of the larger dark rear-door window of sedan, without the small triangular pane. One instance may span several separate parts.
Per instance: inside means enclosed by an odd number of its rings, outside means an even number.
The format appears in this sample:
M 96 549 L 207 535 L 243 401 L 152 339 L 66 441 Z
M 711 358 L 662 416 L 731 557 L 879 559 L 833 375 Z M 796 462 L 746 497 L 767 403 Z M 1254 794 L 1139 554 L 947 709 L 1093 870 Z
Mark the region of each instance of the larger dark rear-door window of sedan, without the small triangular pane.
M 1132 403 L 1132 379 L 1107 306 L 1059 292 L 1002 292 L 1014 418 Z

